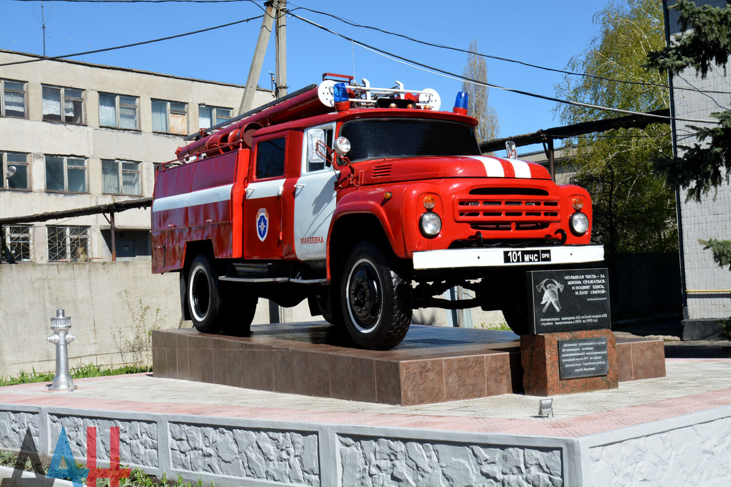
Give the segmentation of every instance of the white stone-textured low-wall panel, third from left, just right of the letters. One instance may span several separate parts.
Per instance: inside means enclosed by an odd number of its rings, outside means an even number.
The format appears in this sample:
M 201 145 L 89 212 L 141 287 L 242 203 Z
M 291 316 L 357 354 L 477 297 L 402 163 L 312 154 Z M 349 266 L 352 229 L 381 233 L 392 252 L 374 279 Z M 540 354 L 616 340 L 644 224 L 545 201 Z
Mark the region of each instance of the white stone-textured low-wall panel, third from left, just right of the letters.
M 319 486 L 317 434 L 170 423 L 174 469 Z

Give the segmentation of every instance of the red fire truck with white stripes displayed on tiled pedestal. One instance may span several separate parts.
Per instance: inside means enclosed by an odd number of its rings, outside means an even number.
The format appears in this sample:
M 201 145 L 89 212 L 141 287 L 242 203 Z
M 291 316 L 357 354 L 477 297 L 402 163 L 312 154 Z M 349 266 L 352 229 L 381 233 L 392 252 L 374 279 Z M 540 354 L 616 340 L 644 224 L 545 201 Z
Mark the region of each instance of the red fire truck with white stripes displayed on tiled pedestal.
M 152 206 L 152 269 L 180 273 L 183 316 L 247 334 L 260 297 L 308 299 L 371 349 L 398 345 L 419 307 L 502 310 L 526 332 L 527 269 L 604 257 L 591 200 L 539 164 L 482 156 L 466 93 L 440 104 L 326 74 L 189 136 Z M 456 285 L 474 299 L 439 297 Z

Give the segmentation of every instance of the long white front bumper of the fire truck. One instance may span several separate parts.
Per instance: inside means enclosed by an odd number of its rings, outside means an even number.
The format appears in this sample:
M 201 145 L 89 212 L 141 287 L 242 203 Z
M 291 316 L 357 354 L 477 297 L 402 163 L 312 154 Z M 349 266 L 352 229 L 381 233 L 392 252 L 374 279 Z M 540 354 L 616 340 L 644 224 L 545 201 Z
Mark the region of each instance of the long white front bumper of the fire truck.
M 506 262 L 506 252 L 550 250 L 550 260 Z M 564 245 L 545 248 L 459 248 L 414 252 L 414 269 L 446 269 L 450 267 L 512 267 L 550 264 L 580 264 L 604 260 L 603 245 Z

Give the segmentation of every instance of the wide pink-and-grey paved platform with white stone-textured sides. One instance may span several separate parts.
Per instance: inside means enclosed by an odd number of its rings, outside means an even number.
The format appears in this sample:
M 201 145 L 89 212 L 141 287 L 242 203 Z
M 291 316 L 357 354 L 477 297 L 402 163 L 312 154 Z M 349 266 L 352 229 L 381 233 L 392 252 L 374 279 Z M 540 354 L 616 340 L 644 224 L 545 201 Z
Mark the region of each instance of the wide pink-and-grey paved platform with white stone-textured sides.
M 75 380 L 73 392 L 7 386 L 0 450 L 48 458 L 64 429 L 85 464 L 95 426 L 106 468 L 118 426 L 123 467 L 205 486 L 731 485 L 731 360 L 666 366 L 667 377 L 556 396 L 549 418 L 523 394 L 403 407 L 151 374 Z M 20 476 L 10 485 L 50 485 Z

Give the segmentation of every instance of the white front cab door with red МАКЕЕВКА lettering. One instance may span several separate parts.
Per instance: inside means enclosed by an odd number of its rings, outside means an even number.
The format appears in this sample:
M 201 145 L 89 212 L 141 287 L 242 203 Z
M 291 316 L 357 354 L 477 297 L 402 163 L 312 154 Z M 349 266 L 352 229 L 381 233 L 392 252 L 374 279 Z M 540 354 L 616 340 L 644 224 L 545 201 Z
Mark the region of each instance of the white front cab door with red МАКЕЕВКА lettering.
M 294 240 L 300 261 L 325 260 L 327 231 L 335 211 L 336 172 L 315 150 L 321 140 L 333 147 L 335 123 L 306 129 L 302 141 L 300 177 L 295 182 Z

